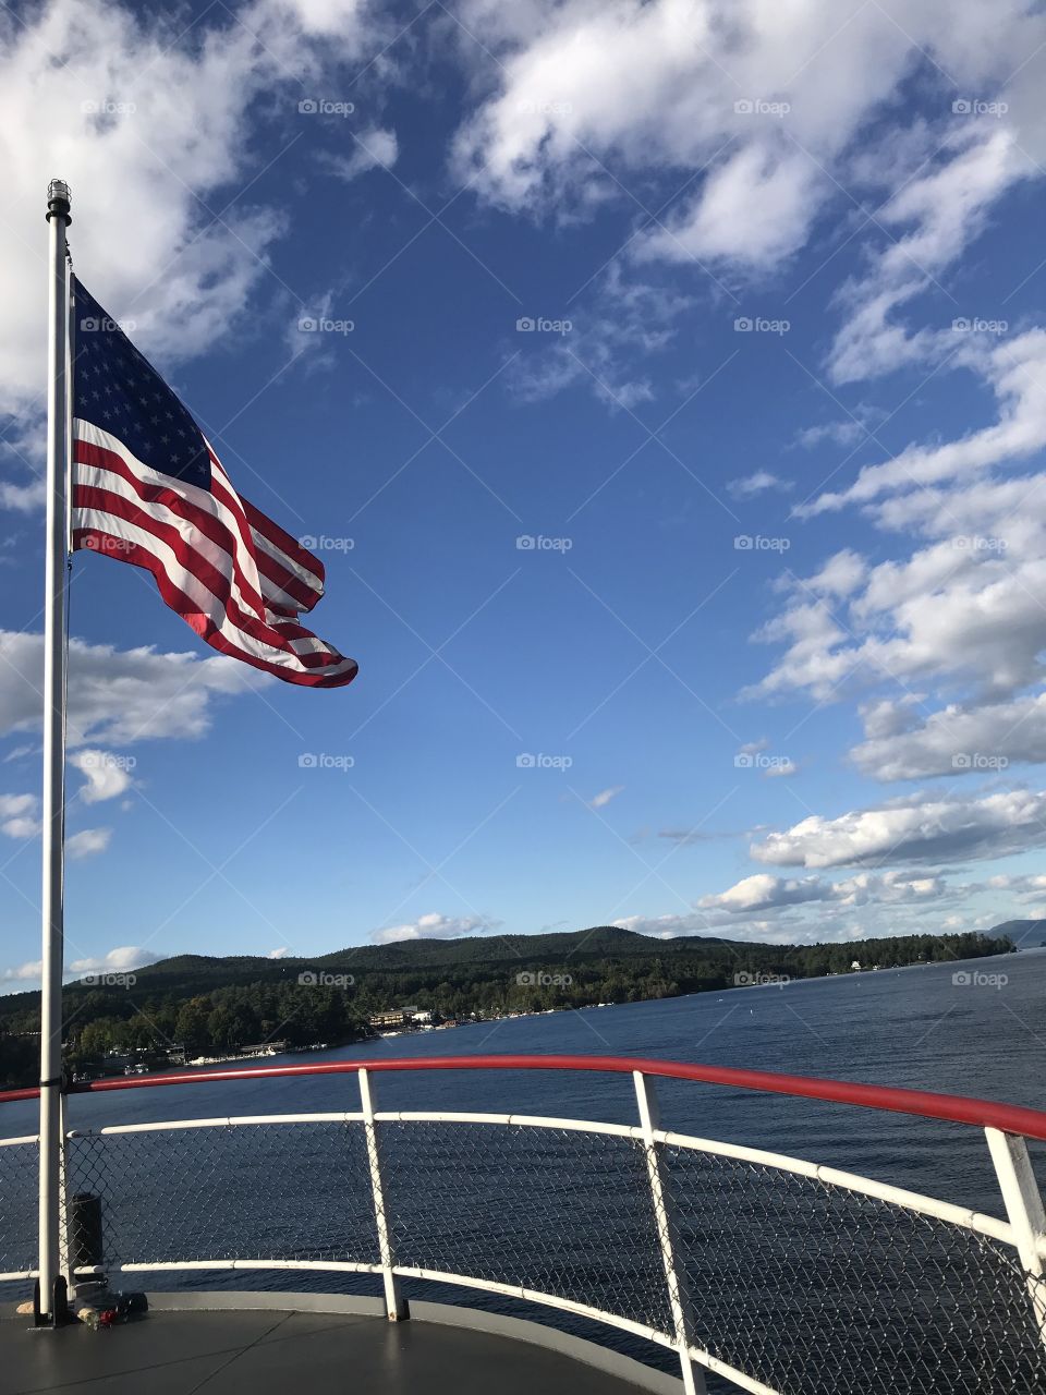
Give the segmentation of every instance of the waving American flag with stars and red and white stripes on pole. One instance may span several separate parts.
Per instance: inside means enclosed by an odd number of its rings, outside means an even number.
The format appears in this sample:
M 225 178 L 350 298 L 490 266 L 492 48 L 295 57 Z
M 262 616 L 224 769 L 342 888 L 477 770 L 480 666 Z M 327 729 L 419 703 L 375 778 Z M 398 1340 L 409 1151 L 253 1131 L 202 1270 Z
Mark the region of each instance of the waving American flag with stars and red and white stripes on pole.
M 201 639 L 291 684 L 357 665 L 297 622 L 324 566 L 237 494 L 190 413 L 74 280 L 73 547 L 152 572 Z

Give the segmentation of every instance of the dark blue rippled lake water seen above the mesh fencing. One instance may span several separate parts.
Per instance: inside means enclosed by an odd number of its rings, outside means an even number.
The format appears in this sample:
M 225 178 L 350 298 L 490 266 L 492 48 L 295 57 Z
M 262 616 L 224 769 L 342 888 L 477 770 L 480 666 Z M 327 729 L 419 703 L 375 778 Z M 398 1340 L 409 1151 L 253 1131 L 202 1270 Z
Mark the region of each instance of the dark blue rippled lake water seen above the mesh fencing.
M 957 982 L 957 976 L 965 981 Z M 651 1056 L 978 1095 L 1042 1109 L 1046 1108 L 1046 950 L 961 965 L 854 974 L 782 988 L 734 989 L 474 1024 L 385 1038 L 338 1052 L 296 1055 L 289 1060 L 304 1064 L 328 1059 L 494 1053 Z M 520 1112 L 636 1122 L 628 1076 L 418 1071 L 379 1074 L 372 1081 L 378 1108 L 384 1109 Z M 794 1154 L 976 1209 L 1001 1212 L 983 1134 L 978 1129 L 683 1081 L 658 1081 L 657 1091 L 662 1123 L 668 1129 Z M 179 1117 L 353 1110 L 358 1109 L 358 1092 L 349 1076 L 247 1080 L 75 1096 L 68 1106 L 71 1126 L 89 1129 L 103 1123 Z M 35 1131 L 35 1103 L 1 1106 L 0 1136 Z M 181 1147 L 188 1151 L 180 1154 L 179 1166 L 191 1165 L 191 1140 L 192 1134 L 180 1136 Z M 166 1147 L 159 1141 L 158 1145 Z M 174 1162 L 170 1166 L 174 1168 Z M 248 1165 L 243 1166 L 245 1186 L 240 1191 L 250 1190 Z M 464 1172 L 467 1159 L 462 1166 Z M 159 1196 L 165 1177 L 159 1155 L 148 1170 L 155 1175 L 151 1184 Z M 322 1168 L 315 1177 L 318 1180 L 310 1183 L 304 1172 L 297 1179 L 289 1172 L 286 1196 L 296 1196 L 296 1184 L 298 1191 L 325 1190 Z M 463 1175 L 462 1193 L 466 1190 Z M 477 1222 L 476 1236 L 483 1233 L 485 1223 Z M 244 1288 L 244 1278 L 243 1274 L 213 1274 L 195 1275 L 190 1282 L 199 1288 Z M 293 1282 L 286 1283 L 286 1279 Z M 258 1282 L 304 1288 L 305 1279 L 303 1274 L 290 1274 Z M 159 1286 L 153 1276 L 148 1282 Z M 358 1289 L 360 1282 L 331 1282 L 325 1276 L 312 1286 Z M 374 1285 L 367 1282 L 364 1288 L 372 1292 Z M 413 1292 L 444 1302 L 455 1297 L 442 1285 L 414 1286 Z M 519 1311 L 510 1303 L 474 1292 L 460 1297 L 478 1306 Z M 562 1322 L 593 1335 L 584 1324 L 549 1310 L 536 1313 L 530 1309 L 522 1315 Z M 598 1339 L 651 1359 L 650 1348 L 640 1348 L 607 1328 L 598 1329 Z

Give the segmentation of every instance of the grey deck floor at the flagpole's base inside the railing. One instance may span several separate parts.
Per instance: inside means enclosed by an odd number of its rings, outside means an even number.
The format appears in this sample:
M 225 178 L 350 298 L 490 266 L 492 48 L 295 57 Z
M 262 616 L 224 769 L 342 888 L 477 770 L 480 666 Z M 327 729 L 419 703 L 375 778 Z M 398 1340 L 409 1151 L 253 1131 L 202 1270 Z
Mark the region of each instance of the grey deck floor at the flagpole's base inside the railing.
M 530 1342 L 332 1313 L 151 1313 L 95 1332 L 0 1324 L 4 1395 L 635 1395 Z

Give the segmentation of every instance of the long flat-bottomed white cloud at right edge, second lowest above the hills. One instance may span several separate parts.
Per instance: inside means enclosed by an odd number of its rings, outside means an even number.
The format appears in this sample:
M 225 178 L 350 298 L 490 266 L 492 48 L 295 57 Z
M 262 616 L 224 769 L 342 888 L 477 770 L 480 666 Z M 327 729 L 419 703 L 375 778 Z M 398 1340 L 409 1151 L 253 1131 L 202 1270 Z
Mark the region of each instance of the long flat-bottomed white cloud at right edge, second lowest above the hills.
M 826 819 L 813 815 L 755 841 L 774 866 L 862 866 L 997 858 L 1046 844 L 1046 792 L 1011 790 L 969 798 L 932 795 Z

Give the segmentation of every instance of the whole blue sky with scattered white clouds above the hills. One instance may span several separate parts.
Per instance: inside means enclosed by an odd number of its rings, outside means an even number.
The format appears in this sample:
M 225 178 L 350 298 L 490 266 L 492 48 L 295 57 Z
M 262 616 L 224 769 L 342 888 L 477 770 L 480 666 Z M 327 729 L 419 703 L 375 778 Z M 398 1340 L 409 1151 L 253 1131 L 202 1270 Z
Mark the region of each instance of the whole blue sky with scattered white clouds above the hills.
M 77 557 L 77 972 L 1046 914 L 1043 43 L 965 0 L 10 17 L 4 988 L 38 982 L 52 176 L 360 663 L 262 679 Z

